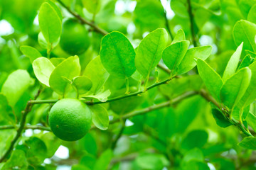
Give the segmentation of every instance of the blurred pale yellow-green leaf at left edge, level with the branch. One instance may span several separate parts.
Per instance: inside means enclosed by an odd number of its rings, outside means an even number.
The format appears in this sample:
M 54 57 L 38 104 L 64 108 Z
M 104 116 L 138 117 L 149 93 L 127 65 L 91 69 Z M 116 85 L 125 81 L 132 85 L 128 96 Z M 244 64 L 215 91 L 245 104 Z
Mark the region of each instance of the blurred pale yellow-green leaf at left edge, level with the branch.
M 4 82 L 1 93 L 3 93 L 10 106 L 15 106 L 21 95 L 34 84 L 34 80 L 26 70 L 18 69 L 12 72 Z

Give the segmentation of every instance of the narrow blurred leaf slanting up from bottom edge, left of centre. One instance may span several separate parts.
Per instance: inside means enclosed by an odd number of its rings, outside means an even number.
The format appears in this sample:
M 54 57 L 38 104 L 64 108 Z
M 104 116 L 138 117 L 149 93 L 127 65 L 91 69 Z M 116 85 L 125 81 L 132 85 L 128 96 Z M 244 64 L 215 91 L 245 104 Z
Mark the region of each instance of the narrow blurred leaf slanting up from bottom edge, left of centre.
M 97 159 L 97 162 L 94 166 L 94 170 L 98 170 L 98 169 L 107 169 L 107 167 L 109 166 L 110 164 L 110 161 L 112 159 L 112 150 L 111 149 L 107 149 L 105 150 L 105 152 L 103 152 L 101 155 L 100 155 L 100 158 Z

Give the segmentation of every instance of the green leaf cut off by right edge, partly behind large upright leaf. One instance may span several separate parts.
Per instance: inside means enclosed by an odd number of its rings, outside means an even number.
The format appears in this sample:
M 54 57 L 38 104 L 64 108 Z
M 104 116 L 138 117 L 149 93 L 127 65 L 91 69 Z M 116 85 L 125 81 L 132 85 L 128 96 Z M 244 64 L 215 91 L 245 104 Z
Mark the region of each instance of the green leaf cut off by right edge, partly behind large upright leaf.
M 256 62 L 253 62 L 249 66 L 250 70 L 252 71 L 252 77 L 250 79 L 250 84 L 247 87 L 245 94 L 242 96 L 238 106 L 246 107 L 250 105 L 256 98 Z

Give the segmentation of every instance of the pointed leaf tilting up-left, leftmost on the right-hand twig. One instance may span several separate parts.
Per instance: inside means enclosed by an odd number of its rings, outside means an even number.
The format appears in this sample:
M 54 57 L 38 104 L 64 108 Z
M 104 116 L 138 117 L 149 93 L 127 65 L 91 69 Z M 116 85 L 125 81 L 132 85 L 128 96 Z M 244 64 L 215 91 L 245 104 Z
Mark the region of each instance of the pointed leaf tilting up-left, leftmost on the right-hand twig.
M 198 73 L 204 84 L 206 84 L 208 91 L 216 100 L 220 101 L 220 89 L 223 86 L 223 80 L 220 75 L 201 59 L 197 60 L 197 64 Z

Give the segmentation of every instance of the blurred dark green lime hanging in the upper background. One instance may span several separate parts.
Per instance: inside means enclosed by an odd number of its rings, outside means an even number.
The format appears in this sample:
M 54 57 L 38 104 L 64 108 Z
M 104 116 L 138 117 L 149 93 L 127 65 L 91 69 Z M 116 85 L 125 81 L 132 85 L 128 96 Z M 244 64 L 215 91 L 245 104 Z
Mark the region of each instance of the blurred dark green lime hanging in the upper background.
M 85 26 L 75 19 L 63 22 L 60 47 L 69 55 L 81 55 L 90 46 L 90 38 Z

